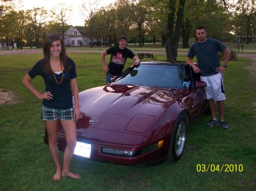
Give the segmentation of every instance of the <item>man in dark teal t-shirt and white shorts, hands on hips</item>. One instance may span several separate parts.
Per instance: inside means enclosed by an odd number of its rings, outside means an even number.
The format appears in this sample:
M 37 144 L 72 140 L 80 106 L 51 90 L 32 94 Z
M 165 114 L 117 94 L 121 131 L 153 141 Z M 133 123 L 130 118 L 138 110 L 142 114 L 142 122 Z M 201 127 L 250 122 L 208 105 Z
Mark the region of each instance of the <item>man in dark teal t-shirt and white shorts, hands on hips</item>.
M 197 28 L 196 37 L 198 41 L 191 45 L 187 54 L 187 62 L 195 73 L 200 73 L 201 80 L 207 83 L 205 91 L 209 100 L 210 111 L 212 112 L 212 119 L 210 119 L 207 126 L 212 127 L 218 124 L 215 109 L 217 101 L 218 112 L 220 114 L 219 125 L 222 129 L 228 129 L 228 125 L 224 119 L 224 100 L 226 96 L 224 94 L 222 71 L 228 65 L 230 50 L 216 39 L 207 39 L 207 32 L 204 27 Z M 222 66 L 220 65 L 218 52 L 225 53 L 224 65 Z M 197 65 L 192 61 L 195 56 L 197 58 Z

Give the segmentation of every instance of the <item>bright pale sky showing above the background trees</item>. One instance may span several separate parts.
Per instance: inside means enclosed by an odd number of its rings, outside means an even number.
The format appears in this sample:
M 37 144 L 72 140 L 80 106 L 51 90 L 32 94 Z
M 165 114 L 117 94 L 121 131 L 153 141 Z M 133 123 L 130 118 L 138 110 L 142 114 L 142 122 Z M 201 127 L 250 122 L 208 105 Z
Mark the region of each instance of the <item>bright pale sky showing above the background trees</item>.
M 22 5 L 23 10 L 32 9 L 33 7 L 44 7 L 46 10 L 50 10 L 60 3 L 65 3 L 65 5 L 71 7 L 73 10 L 73 16 L 68 24 L 72 24 L 73 26 L 84 26 L 84 21 L 79 13 L 81 12 L 80 7 L 82 3 L 88 1 L 94 0 L 22 0 Z M 109 5 L 115 1 L 117 0 L 100 0 L 100 6 Z M 18 0 L 16 0 L 16 2 L 18 2 Z

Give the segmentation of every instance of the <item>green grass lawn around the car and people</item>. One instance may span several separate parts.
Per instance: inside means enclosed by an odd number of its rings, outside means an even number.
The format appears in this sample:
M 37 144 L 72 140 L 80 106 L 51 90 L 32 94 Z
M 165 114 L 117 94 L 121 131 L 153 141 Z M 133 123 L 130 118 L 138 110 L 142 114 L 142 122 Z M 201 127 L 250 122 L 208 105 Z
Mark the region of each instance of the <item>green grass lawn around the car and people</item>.
M 79 91 L 105 82 L 99 53 L 69 53 L 77 65 Z M 164 55 L 157 55 L 159 60 Z M 176 163 L 135 168 L 92 162 L 74 157 L 73 172 L 81 180 L 51 179 L 55 165 L 43 143 L 44 125 L 40 119 L 42 101 L 22 86 L 22 78 L 40 55 L 0 56 L 0 88 L 14 91 L 18 103 L 0 105 L 0 190 L 254 190 L 256 180 L 255 78 L 246 66 L 249 60 L 229 62 L 224 72 L 226 121 L 229 130 L 207 128 L 210 116 L 200 116 L 187 133 L 182 158 Z M 186 60 L 179 56 L 178 60 Z M 126 66 L 129 66 L 131 60 Z M 255 73 L 254 73 L 255 75 Z M 43 80 L 33 84 L 44 90 Z M 61 158 L 63 153 L 60 154 Z M 242 165 L 233 172 L 197 172 L 200 164 Z M 199 167 L 199 166 L 198 166 Z M 230 169 L 232 170 L 232 168 Z M 241 168 L 240 168 L 241 171 Z

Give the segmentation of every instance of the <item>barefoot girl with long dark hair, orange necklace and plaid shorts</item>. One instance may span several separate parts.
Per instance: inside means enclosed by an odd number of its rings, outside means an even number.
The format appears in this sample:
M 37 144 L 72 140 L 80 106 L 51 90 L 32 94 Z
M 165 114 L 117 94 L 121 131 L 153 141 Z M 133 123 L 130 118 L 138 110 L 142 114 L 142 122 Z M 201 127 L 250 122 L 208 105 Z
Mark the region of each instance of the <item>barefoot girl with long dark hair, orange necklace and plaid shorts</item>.
M 80 116 L 75 62 L 66 55 L 62 37 L 54 33 L 46 37 L 43 52 L 44 58 L 28 71 L 22 82 L 38 99 L 43 99 L 41 118 L 46 124 L 49 151 L 56 165 L 56 172 L 52 179 L 60 180 L 61 176 L 81 179 L 79 175 L 69 171 L 69 164 L 76 146 L 75 120 Z M 31 83 L 36 75 L 41 75 L 44 79 L 46 91 L 43 93 L 36 90 Z M 75 108 L 73 108 L 72 93 Z M 67 139 L 62 169 L 57 146 L 58 121 L 61 122 Z

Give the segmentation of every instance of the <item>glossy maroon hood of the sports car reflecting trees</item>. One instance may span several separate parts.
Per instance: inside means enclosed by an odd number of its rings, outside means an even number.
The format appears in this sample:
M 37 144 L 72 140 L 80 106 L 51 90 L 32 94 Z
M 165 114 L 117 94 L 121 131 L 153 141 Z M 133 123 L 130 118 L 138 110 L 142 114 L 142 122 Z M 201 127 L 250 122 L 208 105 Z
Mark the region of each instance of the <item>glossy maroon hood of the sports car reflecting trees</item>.
M 188 90 L 118 84 L 82 91 L 79 93 L 78 134 L 100 138 L 108 137 L 106 134 L 111 131 L 112 139 L 113 135 L 120 140 L 123 136 L 137 135 L 136 139 L 143 142 L 154 121 L 186 92 Z

